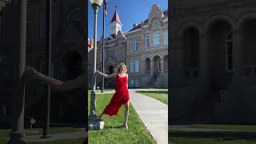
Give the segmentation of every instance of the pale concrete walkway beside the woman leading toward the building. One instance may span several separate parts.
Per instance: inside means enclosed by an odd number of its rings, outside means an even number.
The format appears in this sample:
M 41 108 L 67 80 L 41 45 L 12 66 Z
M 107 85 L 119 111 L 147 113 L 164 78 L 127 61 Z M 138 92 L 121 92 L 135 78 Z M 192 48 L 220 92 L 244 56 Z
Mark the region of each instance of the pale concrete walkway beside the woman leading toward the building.
M 129 89 L 130 102 L 158 144 L 168 143 L 168 106 Z

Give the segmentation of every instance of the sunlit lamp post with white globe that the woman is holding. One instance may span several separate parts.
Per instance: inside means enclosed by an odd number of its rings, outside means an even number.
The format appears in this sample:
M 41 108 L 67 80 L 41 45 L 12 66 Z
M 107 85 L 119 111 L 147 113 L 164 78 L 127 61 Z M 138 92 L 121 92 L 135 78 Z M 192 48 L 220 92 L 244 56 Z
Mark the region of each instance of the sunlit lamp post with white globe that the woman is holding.
M 96 58 L 97 58 L 97 15 L 100 6 L 102 6 L 102 0 L 90 0 L 91 6 L 94 9 L 94 73 L 92 78 L 92 90 L 90 93 L 90 115 L 89 115 L 89 129 L 100 130 L 104 126 L 104 122 L 98 121 L 96 115 Z

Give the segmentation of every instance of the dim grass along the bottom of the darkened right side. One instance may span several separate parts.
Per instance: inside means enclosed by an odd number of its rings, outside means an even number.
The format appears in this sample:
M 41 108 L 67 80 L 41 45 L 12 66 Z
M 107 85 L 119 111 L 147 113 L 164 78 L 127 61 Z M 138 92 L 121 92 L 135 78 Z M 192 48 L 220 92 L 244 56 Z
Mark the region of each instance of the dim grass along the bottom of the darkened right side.
M 192 125 L 193 126 L 193 125 Z M 191 127 L 191 126 L 190 126 Z M 194 125 L 194 128 L 222 129 L 226 130 L 254 130 L 247 126 L 230 125 Z M 254 127 L 254 126 L 252 126 Z M 254 132 L 199 132 L 174 129 L 169 126 L 169 140 L 176 144 L 256 144 Z

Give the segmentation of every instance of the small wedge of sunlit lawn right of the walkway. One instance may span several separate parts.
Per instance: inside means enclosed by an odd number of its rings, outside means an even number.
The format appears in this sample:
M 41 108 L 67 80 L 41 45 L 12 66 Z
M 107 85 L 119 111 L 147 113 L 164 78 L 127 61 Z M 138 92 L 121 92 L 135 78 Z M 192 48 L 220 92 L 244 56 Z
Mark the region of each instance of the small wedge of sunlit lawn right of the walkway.
M 160 102 L 164 102 L 168 105 L 168 89 L 148 89 L 148 90 L 137 90 L 139 94 L 155 98 Z

